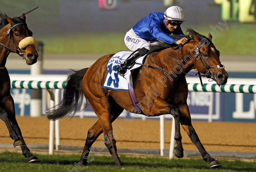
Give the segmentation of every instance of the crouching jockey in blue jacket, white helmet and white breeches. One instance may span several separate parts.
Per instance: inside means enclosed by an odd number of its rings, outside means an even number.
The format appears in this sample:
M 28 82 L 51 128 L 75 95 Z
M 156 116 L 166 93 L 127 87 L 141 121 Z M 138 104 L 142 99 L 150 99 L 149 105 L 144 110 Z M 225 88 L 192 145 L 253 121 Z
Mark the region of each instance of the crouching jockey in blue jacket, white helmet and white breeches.
M 119 75 L 124 76 L 126 70 L 135 60 L 149 51 L 149 45 L 163 41 L 169 44 L 185 44 L 187 38 L 175 39 L 170 34 L 183 36 L 180 25 L 183 23 L 184 13 L 178 6 L 169 7 L 165 13 L 154 12 L 144 17 L 125 35 L 125 45 L 134 51 L 126 61 L 117 68 Z M 157 40 L 158 39 L 158 40 Z

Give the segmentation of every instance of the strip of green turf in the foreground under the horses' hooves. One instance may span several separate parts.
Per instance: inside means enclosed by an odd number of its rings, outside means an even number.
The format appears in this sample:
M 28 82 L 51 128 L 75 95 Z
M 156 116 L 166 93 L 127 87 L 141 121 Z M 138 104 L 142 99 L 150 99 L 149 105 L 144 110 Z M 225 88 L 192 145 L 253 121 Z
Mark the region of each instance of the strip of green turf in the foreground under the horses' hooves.
M 21 153 L 2 152 L 0 153 L 0 171 L 8 172 L 67 172 L 75 168 L 74 163 L 78 163 L 80 154 L 72 155 L 36 155 L 41 159 L 41 163 L 28 164 L 27 158 L 23 157 Z M 116 167 L 111 156 L 94 156 L 94 160 L 83 170 L 77 168 L 78 171 L 93 171 L 93 172 L 165 172 L 165 171 L 179 171 L 179 172 L 201 172 L 213 171 L 209 164 L 202 160 L 202 158 L 183 158 L 172 159 L 162 157 L 134 157 L 121 155 L 120 159 L 123 163 L 123 169 Z M 223 165 L 217 171 L 221 172 L 244 172 L 256 171 L 255 160 L 250 162 L 241 161 L 239 159 L 218 159 Z M 81 166 L 83 168 L 83 166 Z M 75 170 L 73 170 L 74 172 Z M 214 170 L 215 171 L 215 170 Z

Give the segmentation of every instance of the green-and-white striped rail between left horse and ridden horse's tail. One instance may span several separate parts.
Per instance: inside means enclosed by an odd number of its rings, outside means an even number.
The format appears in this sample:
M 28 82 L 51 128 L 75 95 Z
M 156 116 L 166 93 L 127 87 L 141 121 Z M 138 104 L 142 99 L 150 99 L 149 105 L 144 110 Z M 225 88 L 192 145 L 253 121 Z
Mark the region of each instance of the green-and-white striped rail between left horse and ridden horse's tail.
M 11 88 L 24 89 L 63 89 L 66 81 L 12 81 Z

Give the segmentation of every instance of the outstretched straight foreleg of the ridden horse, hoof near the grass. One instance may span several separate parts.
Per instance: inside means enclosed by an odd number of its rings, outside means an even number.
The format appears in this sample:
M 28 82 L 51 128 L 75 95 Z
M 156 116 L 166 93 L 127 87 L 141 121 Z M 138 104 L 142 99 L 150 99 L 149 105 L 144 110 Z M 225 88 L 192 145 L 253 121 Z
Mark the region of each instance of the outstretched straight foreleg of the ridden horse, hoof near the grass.
M 201 141 L 199 140 L 196 131 L 194 130 L 194 127 L 191 124 L 191 117 L 190 112 L 188 109 L 187 104 L 180 105 L 179 106 L 181 111 L 181 119 L 180 124 L 183 127 L 183 129 L 186 131 L 188 136 L 190 137 L 190 140 L 195 144 L 198 151 L 201 153 L 203 159 L 210 163 L 210 167 L 221 167 L 222 165 L 212 158 L 209 153 L 205 150 L 204 146 L 202 145 Z

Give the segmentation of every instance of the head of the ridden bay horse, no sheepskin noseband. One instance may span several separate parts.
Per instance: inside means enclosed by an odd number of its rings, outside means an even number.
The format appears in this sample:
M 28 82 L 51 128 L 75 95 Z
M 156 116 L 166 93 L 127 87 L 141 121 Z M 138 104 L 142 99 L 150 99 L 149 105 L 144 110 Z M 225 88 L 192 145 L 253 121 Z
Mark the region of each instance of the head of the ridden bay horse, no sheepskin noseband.
M 228 74 L 220 62 L 219 51 L 212 43 L 212 35 L 209 33 L 205 37 L 193 29 L 188 29 L 188 32 L 194 39 L 194 49 L 190 51 L 190 54 L 196 57 L 194 68 L 216 81 L 217 85 L 226 84 Z

